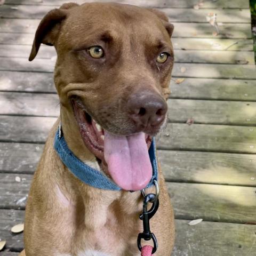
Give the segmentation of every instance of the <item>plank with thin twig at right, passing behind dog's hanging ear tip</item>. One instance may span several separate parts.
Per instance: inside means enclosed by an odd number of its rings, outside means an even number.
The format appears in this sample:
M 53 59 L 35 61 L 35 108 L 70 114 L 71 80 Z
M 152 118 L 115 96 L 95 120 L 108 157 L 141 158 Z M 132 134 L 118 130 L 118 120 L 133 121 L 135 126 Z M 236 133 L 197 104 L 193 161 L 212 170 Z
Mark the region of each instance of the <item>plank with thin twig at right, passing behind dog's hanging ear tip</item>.
M 0 33 L 0 44 L 33 44 L 34 34 Z M 219 50 L 219 51 L 253 51 L 252 39 L 225 38 L 172 38 L 177 50 Z M 41 46 L 42 47 L 42 46 Z M 53 49 L 53 47 L 51 47 Z M 41 49 L 40 49 L 41 51 Z M 40 52 L 39 51 L 39 52 Z

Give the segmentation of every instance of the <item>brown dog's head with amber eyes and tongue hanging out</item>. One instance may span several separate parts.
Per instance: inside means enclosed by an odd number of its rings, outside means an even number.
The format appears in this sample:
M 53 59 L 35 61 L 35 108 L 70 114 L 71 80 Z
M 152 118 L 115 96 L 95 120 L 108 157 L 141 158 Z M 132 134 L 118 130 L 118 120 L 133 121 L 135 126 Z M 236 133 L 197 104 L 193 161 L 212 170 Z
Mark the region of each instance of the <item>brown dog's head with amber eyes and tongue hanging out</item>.
M 114 3 L 64 4 L 47 13 L 36 31 L 29 60 L 41 43 L 54 45 L 61 111 L 73 117 L 69 122 L 76 120 L 86 147 L 128 190 L 149 181 L 145 148 L 166 121 L 172 31 L 158 10 Z M 135 160 L 140 167 L 131 164 Z M 140 175 L 147 178 L 124 185 L 115 176 L 126 165 L 137 172 L 148 168 Z

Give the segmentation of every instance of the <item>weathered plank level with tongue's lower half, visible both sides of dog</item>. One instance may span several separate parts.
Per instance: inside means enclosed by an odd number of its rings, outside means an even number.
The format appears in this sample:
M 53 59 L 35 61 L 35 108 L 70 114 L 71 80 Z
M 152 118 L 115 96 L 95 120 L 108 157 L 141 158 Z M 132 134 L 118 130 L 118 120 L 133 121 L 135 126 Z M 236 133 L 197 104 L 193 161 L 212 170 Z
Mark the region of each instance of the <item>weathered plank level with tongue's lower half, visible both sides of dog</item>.
M 44 145 L 0 142 L 0 172 L 33 174 Z M 167 181 L 256 186 L 256 156 L 158 150 Z

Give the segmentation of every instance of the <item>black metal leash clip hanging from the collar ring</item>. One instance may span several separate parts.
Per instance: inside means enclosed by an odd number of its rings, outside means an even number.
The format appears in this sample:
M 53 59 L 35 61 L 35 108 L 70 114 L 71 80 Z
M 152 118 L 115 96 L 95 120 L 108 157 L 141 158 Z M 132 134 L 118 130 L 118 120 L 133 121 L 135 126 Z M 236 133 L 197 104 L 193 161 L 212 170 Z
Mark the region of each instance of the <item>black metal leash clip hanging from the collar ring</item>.
M 137 245 L 140 251 L 142 249 L 141 239 L 143 238 L 145 241 L 149 241 L 150 239 L 152 239 L 154 243 L 152 254 L 156 252 L 158 246 L 157 239 L 154 233 L 151 233 L 149 225 L 149 220 L 155 215 L 159 207 L 159 187 L 156 180 L 154 180 L 154 185 L 156 187 L 156 194 L 151 193 L 146 195 L 145 190 L 141 190 L 141 194 L 144 197 L 143 212 L 140 214 L 140 219 L 143 221 L 143 232 L 139 233 L 137 239 Z M 152 206 L 149 210 L 147 210 L 148 203 L 152 203 Z

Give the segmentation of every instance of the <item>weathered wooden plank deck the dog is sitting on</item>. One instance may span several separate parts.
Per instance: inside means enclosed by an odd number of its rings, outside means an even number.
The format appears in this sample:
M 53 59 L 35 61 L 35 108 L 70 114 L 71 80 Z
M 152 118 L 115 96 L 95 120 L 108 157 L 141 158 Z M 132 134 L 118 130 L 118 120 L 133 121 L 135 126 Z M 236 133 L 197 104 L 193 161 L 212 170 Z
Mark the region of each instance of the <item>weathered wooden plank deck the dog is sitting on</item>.
M 28 55 L 39 20 L 63 2 L 6 0 L 0 6 L 3 256 L 23 248 L 22 234 L 10 229 L 23 222 L 32 175 L 59 114 L 53 47 L 42 46 L 31 63 Z M 171 82 L 169 124 L 157 143 L 175 210 L 172 255 L 255 256 L 256 73 L 249 0 L 117 2 L 159 7 L 175 26 L 173 79 L 185 79 Z M 219 35 L 206 20 L 209 13 L 217 13 Z M 203 222 L 188 225 L 198 218 Z

